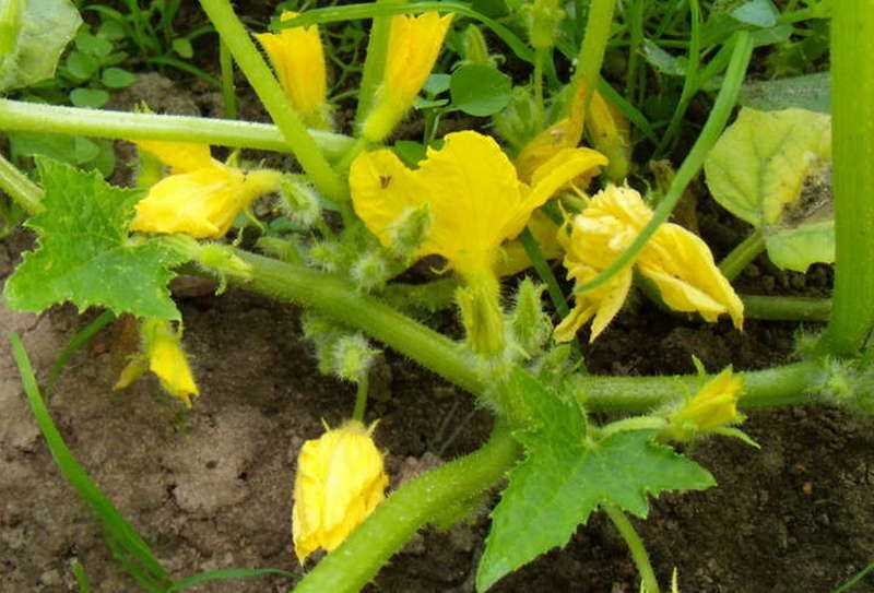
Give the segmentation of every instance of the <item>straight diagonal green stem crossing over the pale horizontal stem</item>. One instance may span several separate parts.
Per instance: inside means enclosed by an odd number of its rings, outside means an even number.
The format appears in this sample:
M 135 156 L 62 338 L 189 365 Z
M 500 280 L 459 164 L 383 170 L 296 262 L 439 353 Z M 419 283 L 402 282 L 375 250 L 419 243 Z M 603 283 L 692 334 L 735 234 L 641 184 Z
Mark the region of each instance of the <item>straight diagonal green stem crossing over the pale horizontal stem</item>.
M 349 198 L 349 188 L 307 133 L 280 83 L 255 47 L 246 27 L 234 13 L 229 0 L 200 0 L 200 4 L 222 37 L 222 41 L 227 44 L 240 70 L 258 93 L 264 108 L 285 137 L 295 158 L 312 180 L 316 189 L 326 198 L 338 202 L 345 201 Z

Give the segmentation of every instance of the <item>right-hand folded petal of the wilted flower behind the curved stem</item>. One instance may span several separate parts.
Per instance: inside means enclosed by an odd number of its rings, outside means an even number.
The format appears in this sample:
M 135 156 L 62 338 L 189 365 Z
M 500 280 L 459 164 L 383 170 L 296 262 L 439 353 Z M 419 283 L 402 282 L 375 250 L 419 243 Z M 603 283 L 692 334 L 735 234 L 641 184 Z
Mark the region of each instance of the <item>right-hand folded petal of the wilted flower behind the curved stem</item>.
M 710 248 L 682 226 L 669 223 L 659 227 L 637 265 L 672 309 L 697 311 L 711 323 L 729 313 L 734 327 L 743 328 L 744 305 L 717 268 Z

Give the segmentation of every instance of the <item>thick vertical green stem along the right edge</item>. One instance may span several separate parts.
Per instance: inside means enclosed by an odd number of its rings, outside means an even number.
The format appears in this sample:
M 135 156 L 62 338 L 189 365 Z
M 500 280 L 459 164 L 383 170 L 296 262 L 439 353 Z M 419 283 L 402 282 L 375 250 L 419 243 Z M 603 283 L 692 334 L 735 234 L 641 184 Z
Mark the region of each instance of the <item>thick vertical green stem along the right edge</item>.
M 874 328 L 874 0 L 831 17 L 835 292 L 823 348 L 853 356 Z

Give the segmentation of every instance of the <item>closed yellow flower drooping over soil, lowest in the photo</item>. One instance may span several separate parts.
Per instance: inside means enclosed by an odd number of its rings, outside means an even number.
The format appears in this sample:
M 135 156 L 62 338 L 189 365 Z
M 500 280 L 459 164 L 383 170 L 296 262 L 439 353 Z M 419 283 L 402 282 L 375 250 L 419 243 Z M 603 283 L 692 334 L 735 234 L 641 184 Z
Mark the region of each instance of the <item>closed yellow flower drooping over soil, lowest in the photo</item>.
M 292 511 L 300 564 L 318 548 L 330 552 L 343 543 L 385 498 L 389 477 L 374 426 L 349 420 L 300 449 Z

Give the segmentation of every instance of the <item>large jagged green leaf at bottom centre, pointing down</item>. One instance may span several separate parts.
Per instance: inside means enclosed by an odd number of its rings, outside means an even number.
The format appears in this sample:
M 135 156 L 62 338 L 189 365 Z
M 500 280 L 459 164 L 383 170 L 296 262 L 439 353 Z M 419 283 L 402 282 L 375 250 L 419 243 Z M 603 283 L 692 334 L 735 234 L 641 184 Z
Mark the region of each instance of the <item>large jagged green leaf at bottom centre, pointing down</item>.
M 716 484 L 707 470 L 653 442 L 653 430 L 590 441 L 574 404 L 524 371 L 517 371 L 512 383 L 516 393 L 523 394 L 522 407 L 541 422 L 538 429 L 517 435 L 527 456 L 510 472 L 509 485 L 492 513 L 477 591 L 564 546 L 602 503 L 646 518 L 650 494 L 701 490 Z

